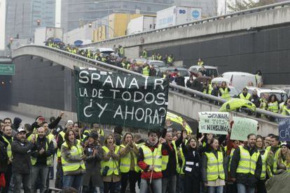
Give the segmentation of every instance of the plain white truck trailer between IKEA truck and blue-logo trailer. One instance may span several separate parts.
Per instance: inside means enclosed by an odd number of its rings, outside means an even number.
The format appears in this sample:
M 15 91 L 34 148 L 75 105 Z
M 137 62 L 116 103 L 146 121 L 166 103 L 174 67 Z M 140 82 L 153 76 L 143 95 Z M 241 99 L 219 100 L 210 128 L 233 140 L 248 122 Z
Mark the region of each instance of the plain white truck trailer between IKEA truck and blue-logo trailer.
M 130 20 L 127 25 L 127 34 L 137 34 L 143 31 L 155 29 L 156 16 L 143 15 Z

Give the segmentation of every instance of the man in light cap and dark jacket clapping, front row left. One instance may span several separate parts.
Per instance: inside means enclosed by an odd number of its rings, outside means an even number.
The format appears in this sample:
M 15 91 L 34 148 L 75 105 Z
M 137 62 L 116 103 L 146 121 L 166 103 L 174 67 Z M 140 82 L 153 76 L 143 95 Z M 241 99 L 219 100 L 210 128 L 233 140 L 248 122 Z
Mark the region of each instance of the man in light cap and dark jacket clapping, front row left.
M 32 137 L 31 142 L 27 141 L 25 129 L 20 128 L 11 145 L 13 156 L 12 172 L 15 175 L 15 193 L 20 193 L 21 184 L 25 193 L 32 192 L 30 189 L 30 175 L 32 172 L 30 155 L 35 147 L 34 141 L 35 137 Z

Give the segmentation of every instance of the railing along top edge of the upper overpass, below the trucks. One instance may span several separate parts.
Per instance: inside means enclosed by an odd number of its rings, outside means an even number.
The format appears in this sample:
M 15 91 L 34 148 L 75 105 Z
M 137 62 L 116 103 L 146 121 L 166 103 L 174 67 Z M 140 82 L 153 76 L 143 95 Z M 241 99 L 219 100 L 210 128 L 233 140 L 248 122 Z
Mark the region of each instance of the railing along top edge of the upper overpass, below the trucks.
M 284 1 L 284 2 L 280 2 L 280 3 L 273 3 L 273 4 L 270 4 L 268 6 L 261 6 L 261 7 L 257 7 L 257 8 L 247 9 L 247 10 L 240 10 L 240 11 L 237 11 L 235 13 L 228 13 L 226 15 L 208 17 L 208 18 L 205 18 L 205 19 L 202 19 L 202 20 L 197 20 L 195 22 L 188 22 L 188 23 L 185 23 L 185 24 L 174 25 L 172 27 L 153 29 L 153 30 L 144 31 L 144 32 L 141 32 L 141 33 L 138 33 L 138 34 L 120 36 L 120 37 L 117 37 L 117 38 L 110 38 L 110 39 L 105 40 L 105 41 L 98 41 L 97 43 L 85 44 L 85 45 L 83 45 L 83 47 L 88 47 L 88 46 L 96 45 L 96 44 L 99 44 L 99 43 L 106 43 L 106 42 L 109 42 L 109 41 L 117 41 L 117 40 L 121 40 L 121 39 L 125 39 L 125 38 L 132 38 L 132 37 L 135 37 L 135 36 L 142 36 L 142 35 L 145 35 L 145 34 L 158 33 L 158 32 L 161 32 L 161 31 L 167 31 L 167 30 L 177 29 L 177 28 L 181 28 L 181 27 L 188 27 L 188 26 L 192 26 L 192 25 L 195 25 L 195 24 L 213 22 L 213 21 L 216 21 L 216 20 L 224 20 L 224 19 L 230 18 L 230 17 L 237 17 L 237 16 L 240 16 L 240 15 L 248 15 L 248 14 L 251 14 L 251 13 L 258 13 L 258 12 L 265 11 L 265 10 L 272 10 L 272 9 L 276 9 L 276 8 L 282 8 L 284 6 L 290 6 L 290 1 Z

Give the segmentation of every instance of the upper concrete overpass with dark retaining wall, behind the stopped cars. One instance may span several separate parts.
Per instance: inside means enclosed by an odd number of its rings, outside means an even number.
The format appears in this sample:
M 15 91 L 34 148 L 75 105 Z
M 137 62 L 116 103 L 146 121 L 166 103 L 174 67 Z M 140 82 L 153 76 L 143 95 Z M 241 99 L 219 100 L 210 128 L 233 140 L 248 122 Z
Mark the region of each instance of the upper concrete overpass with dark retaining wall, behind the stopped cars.
M 165 29 L 91 43 L 112 48 L 123 45 L 125 55 L 139 57 L 143 49 L 173 54 L 177 66 L 192 66 L 198 58 L 219 72 L 261 70 L 266 85 L 288 84 L 290 70 L 290 1 L 206 18 Z M 276 68 L 272 68 L 275 64 Z M 277 78 L 279 77 L 279 79 Z

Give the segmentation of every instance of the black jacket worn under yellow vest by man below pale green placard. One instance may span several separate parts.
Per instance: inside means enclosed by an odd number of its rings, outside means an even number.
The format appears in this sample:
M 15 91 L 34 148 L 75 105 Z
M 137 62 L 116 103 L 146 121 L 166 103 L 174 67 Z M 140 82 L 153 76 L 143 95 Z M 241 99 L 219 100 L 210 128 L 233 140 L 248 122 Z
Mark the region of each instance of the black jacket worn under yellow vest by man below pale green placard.
M 256 148 L 253 148 L 251 150 L 249 150 L 248 146 L 245 146 L 243 148 L 244 150 L 248 150 L 250 155 L 253 155 L 254 152 L 258 152 Z M 237 166 L 239 165 L 239 162 L 240 162 L 240 148 L 237 148 L 235 149 L 232 160 L 230 162 L 230 177 L 235 178 L 237 180 L 237 183 L 249 187 L 255 187 L 256 182 L 259 180 L 262 172 L 261 155 L 258 156 L 258 161 L 256 162 L 255 175 L 252 175 L 251 173 L 237 173 Z

